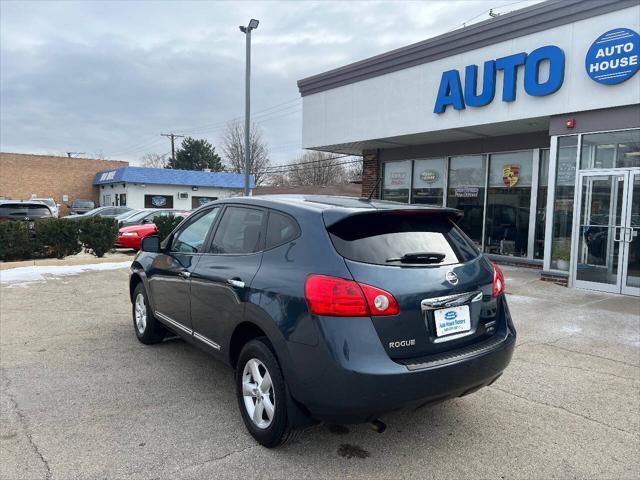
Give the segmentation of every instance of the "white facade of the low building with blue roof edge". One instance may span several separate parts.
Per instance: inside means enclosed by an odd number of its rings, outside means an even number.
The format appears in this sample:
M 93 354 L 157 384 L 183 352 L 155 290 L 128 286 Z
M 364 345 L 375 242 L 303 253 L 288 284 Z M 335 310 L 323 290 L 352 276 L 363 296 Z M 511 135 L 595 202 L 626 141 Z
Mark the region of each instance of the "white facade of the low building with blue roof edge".
M 192 187 L 183 185 L 153 185 L 138 183 L 112 183 L 98 186 L 100 191 L 100 206 L 121 205 L 121 195 L 126 195 L 126 206 L 131 208 L 148 207 L 147 196 L 172 197 L 173 206 L 181 210 L 191 210 L 194 197 L 220 199 L 242 195 L 242 190 L 234 188 Z M 194 190 L 196 189 L 196 190 Z M 197 200 L 197 198 L 196 198 Z M 167 206 L 167 208 L 169 208 Z

